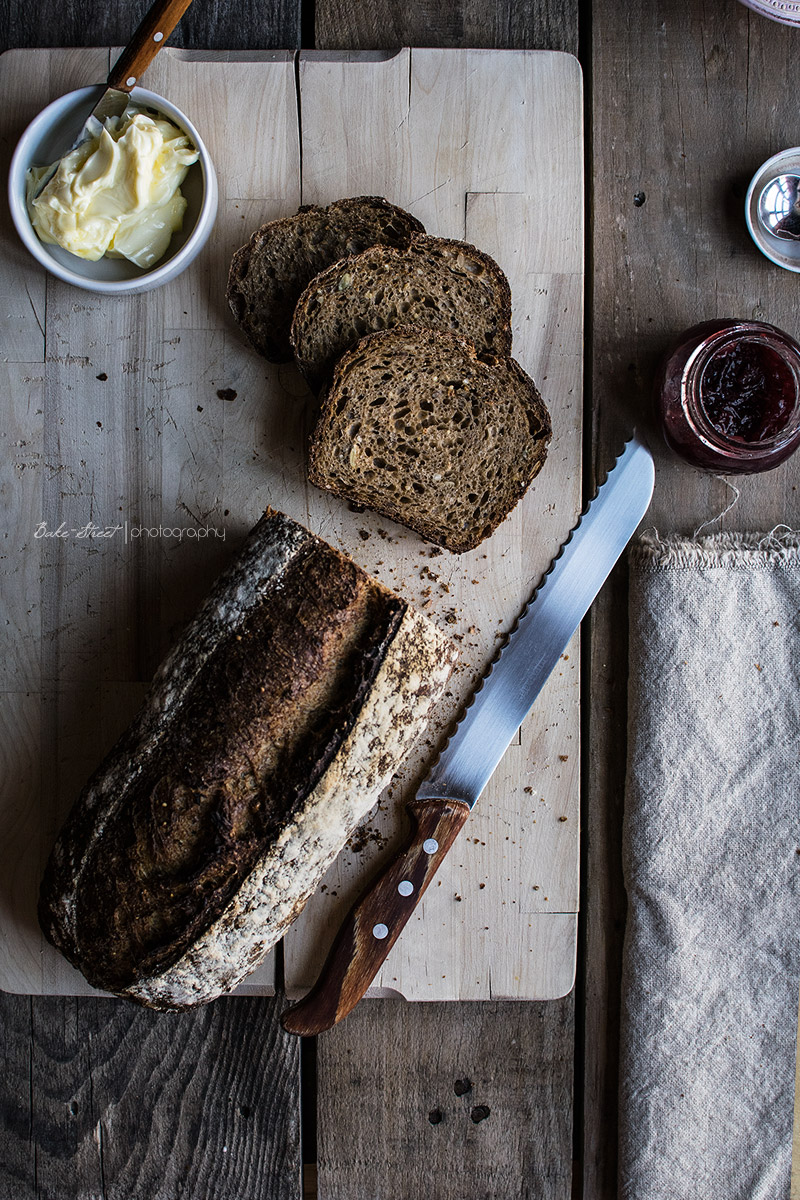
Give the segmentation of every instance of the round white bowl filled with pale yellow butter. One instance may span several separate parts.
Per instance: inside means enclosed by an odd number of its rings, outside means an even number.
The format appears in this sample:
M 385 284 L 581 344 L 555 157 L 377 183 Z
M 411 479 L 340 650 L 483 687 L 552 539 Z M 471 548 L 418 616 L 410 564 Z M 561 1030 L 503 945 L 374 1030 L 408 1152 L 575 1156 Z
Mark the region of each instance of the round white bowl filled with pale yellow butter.
M 59 97 L 23 133 L 8 176 L 12 218 L 60 280 L 103 294 L 148 292 L 180 275 L 207 241 L 213 164 L 188 118 L 143 88 L 98 137 L 65 155 L 95 91 Z

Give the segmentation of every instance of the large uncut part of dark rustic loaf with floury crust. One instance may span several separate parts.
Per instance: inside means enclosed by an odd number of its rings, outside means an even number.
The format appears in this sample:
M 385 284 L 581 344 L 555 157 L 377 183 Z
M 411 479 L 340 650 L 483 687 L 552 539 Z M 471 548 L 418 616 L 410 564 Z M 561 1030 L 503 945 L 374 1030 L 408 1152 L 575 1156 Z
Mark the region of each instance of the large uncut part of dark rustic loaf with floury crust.
M 233 989 L 421 733 L 452 643 L 267 510 L 78 798 L 40 923 L 96 988 L 152 1008 Z

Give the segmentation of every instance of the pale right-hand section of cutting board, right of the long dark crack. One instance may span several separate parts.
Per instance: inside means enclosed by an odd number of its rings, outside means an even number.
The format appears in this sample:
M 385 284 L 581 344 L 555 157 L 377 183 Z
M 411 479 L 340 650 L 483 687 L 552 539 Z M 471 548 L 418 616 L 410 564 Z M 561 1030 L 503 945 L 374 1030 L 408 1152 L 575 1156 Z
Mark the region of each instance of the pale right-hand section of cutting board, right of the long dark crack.
M 384 60 L 302 56 L 302 198 L 391 196 L 506 271 L 513 353 L 553 414 L 548 462 L 495 535 L 431 557 L 421 539 L 302 497 L 300 518 L 397 588 L 458 641 L 459 670 L 428 728 L 434 740 L 489 661 L 581 509 L 581 82 L 561 54 L 402 50 Z M 369 114 L 367 118 L 366 114 Z M 531 115 L 533 114 L 533 115 Z M 492 180 L 486 186 L 482 181 Z M 553 203 L 558 196 L 559 203 Z M 287 496 L 296 515 L 297 497 Z M 283 506 L 283 505 L 281 505 Z M 577 929 L 578 647 L 523 722 L 375 979 L 410 1000 L 553 998 L 572 986 Z M 403 839 L 398 806 L 431 746 L 403 764 L 366 834 L 337 859 L 285 940 L 287 989 L 311 985 L 319 947 Z M 402 810 L 401 810 L 402 812 Z

